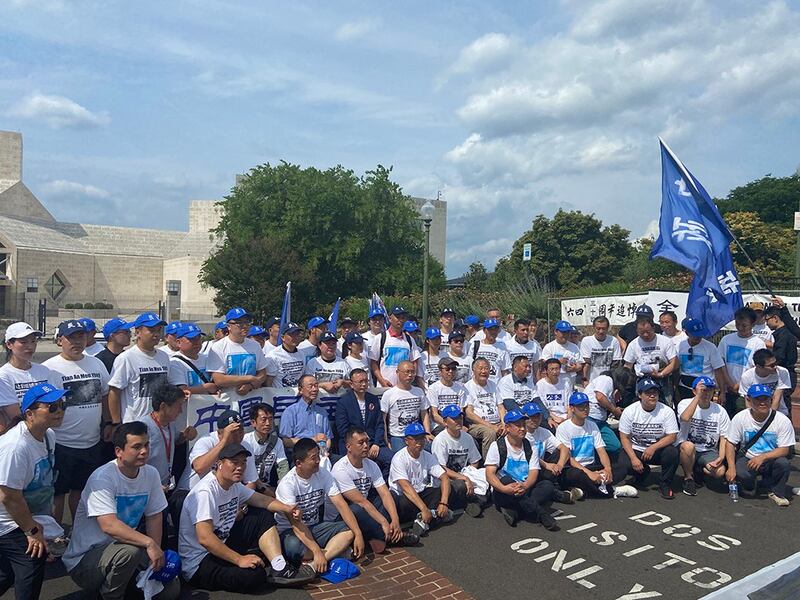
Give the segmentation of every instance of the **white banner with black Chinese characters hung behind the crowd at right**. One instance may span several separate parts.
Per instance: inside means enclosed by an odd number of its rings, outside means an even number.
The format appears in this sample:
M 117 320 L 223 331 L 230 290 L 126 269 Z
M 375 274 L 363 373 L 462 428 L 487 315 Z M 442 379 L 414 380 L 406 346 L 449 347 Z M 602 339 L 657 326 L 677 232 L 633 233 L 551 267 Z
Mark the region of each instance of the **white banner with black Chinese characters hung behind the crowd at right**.
M 765 294 L 743 294 L 745 304 L 763 302 L 770 305 L 770 298 Z M 678 315 L 678 323 L 686 316 L 688 292 L 649 291 L 646 294 L 629 294 L 625 296 L 598 296 L 594 298 L 578 298 L 561 301 L 561 318 L 578 327 L 592 324 L 595 317 L 607 317 L 612 326 L 619 327 L 634 320 L 636 307 L 647 304 L 653 309 L 656 318 L 663 312 L 673 311 Z M 800 297 L 782 297 L 795 321 L 800 324 Z M 679 325 L 680 327 L 680 325 Z M 725 329 L 733 329 L 733 323 Z

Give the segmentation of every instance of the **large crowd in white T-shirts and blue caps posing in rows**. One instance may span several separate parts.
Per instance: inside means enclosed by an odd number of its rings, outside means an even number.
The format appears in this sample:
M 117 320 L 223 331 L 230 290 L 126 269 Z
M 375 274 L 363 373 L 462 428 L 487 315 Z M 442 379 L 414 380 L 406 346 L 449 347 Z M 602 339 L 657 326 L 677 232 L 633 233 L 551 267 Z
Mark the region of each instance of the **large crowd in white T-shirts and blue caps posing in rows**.
M 617 335 L 602 316 L 585 336 L 558 321 L 543 347 L 535 319 L 456 317 L 423 331 L 394 306 L 366 331 L 319 316 L 304 331 L 232 308 L 204 342 L 144 313 L 106 322 L 103 344 L 71 319 L 42 364 L 42 333 L 12 324 L 0 594 L 38 598 L 53 560 L 107 599 L 298 586 L 462 513 L 557 530 L 552 503 L 638 496 L 653 465 L 665 500 L 705 486 L 789 505 L 800 328 L 780 298 L 737 311 L 716 345 L 647 305 Z M 279 419 L 252 401 L 269 387 L 297 390 Z M 229 407 L 207 435 L 176 425 L 192 394 Z

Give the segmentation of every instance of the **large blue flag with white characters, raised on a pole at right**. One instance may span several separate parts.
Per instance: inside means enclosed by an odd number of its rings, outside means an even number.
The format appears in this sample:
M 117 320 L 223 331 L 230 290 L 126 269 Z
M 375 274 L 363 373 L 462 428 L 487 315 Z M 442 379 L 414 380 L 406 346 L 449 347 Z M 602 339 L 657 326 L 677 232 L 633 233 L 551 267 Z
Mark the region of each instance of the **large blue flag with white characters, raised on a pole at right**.
M 731 256 L 733 235 L 717 206 L 672 150 L 661 144 L 661 218 L 650 258 L 665 258 L 694 272 L 686 316 L 713 335 L 742 307 Z

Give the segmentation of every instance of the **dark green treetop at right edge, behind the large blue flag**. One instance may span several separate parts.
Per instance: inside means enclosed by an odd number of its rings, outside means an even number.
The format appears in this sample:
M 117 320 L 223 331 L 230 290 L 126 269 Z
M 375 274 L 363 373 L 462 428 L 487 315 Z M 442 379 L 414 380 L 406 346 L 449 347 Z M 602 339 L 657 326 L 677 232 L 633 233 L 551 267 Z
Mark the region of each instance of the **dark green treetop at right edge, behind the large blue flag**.
M 734 212 L 756 213 L 763 223 L 794 226 L 794 211 L 800 201 L 800 176 L 772 177 L 732 189 L 723 200 L 716 200 L 723 216 Z

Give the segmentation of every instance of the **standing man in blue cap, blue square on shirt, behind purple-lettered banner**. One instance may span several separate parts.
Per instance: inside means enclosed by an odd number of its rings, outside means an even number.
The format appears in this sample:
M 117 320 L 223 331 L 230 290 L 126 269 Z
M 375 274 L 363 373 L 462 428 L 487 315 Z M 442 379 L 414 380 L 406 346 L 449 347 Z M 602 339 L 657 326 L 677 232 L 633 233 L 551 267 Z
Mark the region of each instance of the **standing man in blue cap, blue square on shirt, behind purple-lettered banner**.
M 247 338 L 253 319 L 245 309 L 225 314 L 228 335 L 211 348 L 208 372 L 219 387 L 223 401 L 239 402 L 264 385 L 267 357 L 257 342 Z

